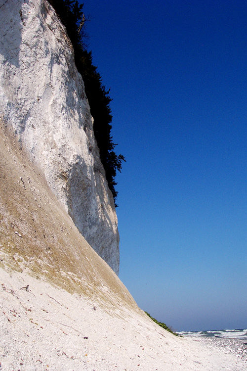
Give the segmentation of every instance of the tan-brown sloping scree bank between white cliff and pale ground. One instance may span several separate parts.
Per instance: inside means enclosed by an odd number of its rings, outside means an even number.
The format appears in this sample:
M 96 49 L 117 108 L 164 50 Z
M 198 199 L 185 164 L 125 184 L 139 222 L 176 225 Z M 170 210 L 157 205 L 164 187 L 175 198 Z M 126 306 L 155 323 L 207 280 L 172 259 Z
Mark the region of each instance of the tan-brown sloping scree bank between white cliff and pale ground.
M 1 120 L 0 268 L 77 292 L 115 315 L 121 308 L 141 313 L 124 284 L 75 227 L 39 166 L 30 161 Z

